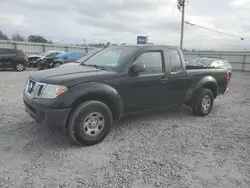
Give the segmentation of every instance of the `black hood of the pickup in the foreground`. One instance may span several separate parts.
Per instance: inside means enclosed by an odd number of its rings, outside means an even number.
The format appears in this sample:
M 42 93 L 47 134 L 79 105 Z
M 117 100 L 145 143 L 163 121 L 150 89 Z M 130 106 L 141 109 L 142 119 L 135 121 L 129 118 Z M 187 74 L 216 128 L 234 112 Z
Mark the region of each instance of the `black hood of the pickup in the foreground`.
M 30 78 L 40 83 L 72 87 L 85 82 L 101 82 L 115 74 L 117 73 L 72 63 L 66 67 L 62 66 L 31 73 Z

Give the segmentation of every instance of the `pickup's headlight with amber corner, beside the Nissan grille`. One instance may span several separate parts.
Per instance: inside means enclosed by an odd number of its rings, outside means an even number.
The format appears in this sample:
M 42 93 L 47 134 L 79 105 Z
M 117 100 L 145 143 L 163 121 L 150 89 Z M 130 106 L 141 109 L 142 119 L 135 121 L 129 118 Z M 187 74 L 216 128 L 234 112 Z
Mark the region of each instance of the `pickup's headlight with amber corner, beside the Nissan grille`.
M 41 91 L 39 98 L 53 99 L 68 91 L 68 88 L 64 85 L 51 85 L 47 84 Z

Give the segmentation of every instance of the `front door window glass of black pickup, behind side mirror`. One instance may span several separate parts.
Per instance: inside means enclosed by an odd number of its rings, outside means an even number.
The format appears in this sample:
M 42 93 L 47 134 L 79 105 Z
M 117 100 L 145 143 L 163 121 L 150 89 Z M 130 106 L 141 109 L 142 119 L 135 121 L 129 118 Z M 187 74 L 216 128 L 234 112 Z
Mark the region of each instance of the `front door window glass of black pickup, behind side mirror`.
M 135 64 L 146 66 L 146 70 L 140 75 L 162 73 L 162 53 L 161 52 L 145 52 L 141 54 Z

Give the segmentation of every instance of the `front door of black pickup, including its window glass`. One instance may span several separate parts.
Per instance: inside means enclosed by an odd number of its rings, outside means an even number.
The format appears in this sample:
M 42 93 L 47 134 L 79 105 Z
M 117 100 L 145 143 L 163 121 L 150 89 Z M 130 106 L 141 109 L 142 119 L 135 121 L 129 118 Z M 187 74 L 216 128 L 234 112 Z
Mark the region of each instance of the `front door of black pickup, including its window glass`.
M 128 75 L 119 89 L 124 102 L 124 113 L 165 106 L 167 82 L 162 50 L 145 51 L 132 63 L 145 66 L 143 72 Z M 129 70 L 130 71 L 130 70 Z

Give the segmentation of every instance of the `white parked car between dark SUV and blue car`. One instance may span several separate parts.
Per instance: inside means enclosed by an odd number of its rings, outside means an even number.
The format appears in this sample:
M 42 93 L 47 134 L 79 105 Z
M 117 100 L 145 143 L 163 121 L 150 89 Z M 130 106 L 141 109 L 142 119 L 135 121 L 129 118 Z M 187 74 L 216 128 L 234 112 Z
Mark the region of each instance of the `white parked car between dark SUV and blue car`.
M 57 55 L 63 54 L 63 51 L 48 51 L 48 52 L 44 52 L 38 55 L 30 55 L 29 56 L 29 62 L 30 65 L 32 67 L 37 67 L 39 62 L 43 59 L 43 58 L 53 58 L 56 57 Z

